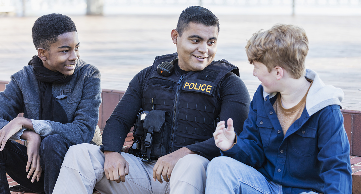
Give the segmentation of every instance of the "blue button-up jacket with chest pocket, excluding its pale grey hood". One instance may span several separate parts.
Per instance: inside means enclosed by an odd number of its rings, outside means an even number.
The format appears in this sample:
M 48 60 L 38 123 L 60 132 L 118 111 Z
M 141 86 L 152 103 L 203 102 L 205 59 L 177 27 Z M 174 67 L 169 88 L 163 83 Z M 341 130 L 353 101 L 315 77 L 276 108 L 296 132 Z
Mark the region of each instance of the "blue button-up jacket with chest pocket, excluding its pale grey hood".
M 257 169 L 268 181 L 282 185 L 284 194 L 351 194 L 350 146 L 340 106 L 323 105 L 310 116 L 306 104 L 283 135 L 272 107 L 277 95 L 269 97 L 260 85 L 236 144 L 221 155 Z M 309 95 L 307 100 L 312 100 Z

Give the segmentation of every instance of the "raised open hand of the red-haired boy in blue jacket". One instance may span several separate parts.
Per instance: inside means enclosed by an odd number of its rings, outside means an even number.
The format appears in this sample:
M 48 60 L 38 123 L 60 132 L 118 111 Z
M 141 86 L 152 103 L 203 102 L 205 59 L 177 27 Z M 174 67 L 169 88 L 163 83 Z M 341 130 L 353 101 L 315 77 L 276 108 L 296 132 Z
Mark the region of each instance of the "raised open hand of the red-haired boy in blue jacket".
M 227 120 L 227 128 L 225 127 L 225 122 L 222 120 L 217 124 L 216 131 L 213 133 L 214 142 L 216 142 L 216 146 L 221 150 L 230 149 L 236 137 L 233 128 L 233 120 L 231 118 Z

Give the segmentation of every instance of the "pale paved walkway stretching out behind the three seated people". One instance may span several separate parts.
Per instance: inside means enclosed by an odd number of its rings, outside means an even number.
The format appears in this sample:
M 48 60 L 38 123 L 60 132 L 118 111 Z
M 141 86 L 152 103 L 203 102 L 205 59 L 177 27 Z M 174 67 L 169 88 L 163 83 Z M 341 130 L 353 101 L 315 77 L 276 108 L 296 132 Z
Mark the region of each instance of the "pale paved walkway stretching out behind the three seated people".
M 178 14 L 178 13 L 177 13 Z M 97 66 L 103 89 L 126 90 L 132 77 L 152 65 L 155 56 L 173 53 L 170 31 L 178 15 L 72 17 L 81 41 L 81 58 Z M 35 17 L 0 17 L 0 80 L 22 69 L 36 49 L 31 27 Z M 216 60 L 237 65 L 251 97 L 260 84 L 244 52 L 246 40 L 276 23 L 303 27 L 309 38 L 306 67 L 325 84 L 340 87 L 344 106 L 361 110 L 361 16 L 219 16 L 221 31 Z

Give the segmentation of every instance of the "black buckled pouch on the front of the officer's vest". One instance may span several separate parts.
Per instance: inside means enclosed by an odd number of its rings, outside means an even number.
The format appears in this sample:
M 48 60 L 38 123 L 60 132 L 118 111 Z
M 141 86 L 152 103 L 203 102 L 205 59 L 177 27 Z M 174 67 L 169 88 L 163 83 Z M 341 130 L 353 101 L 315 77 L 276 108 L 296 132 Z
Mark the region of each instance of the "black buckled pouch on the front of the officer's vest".
M 140 151 L 155 160 L 168 153 L 171 117 L 168 111 L 152 110 L 144 119 Z

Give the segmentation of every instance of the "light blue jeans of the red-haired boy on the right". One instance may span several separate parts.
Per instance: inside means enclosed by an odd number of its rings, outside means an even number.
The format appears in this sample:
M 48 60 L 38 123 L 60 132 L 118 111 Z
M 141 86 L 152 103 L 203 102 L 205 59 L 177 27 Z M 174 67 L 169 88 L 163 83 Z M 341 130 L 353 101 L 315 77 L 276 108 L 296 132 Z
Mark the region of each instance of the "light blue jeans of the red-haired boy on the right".
M 230 157 L 212 159 L 206 174 L 206 194 L 282 194 L 282 185 L 267 181 L 256 169 Z

